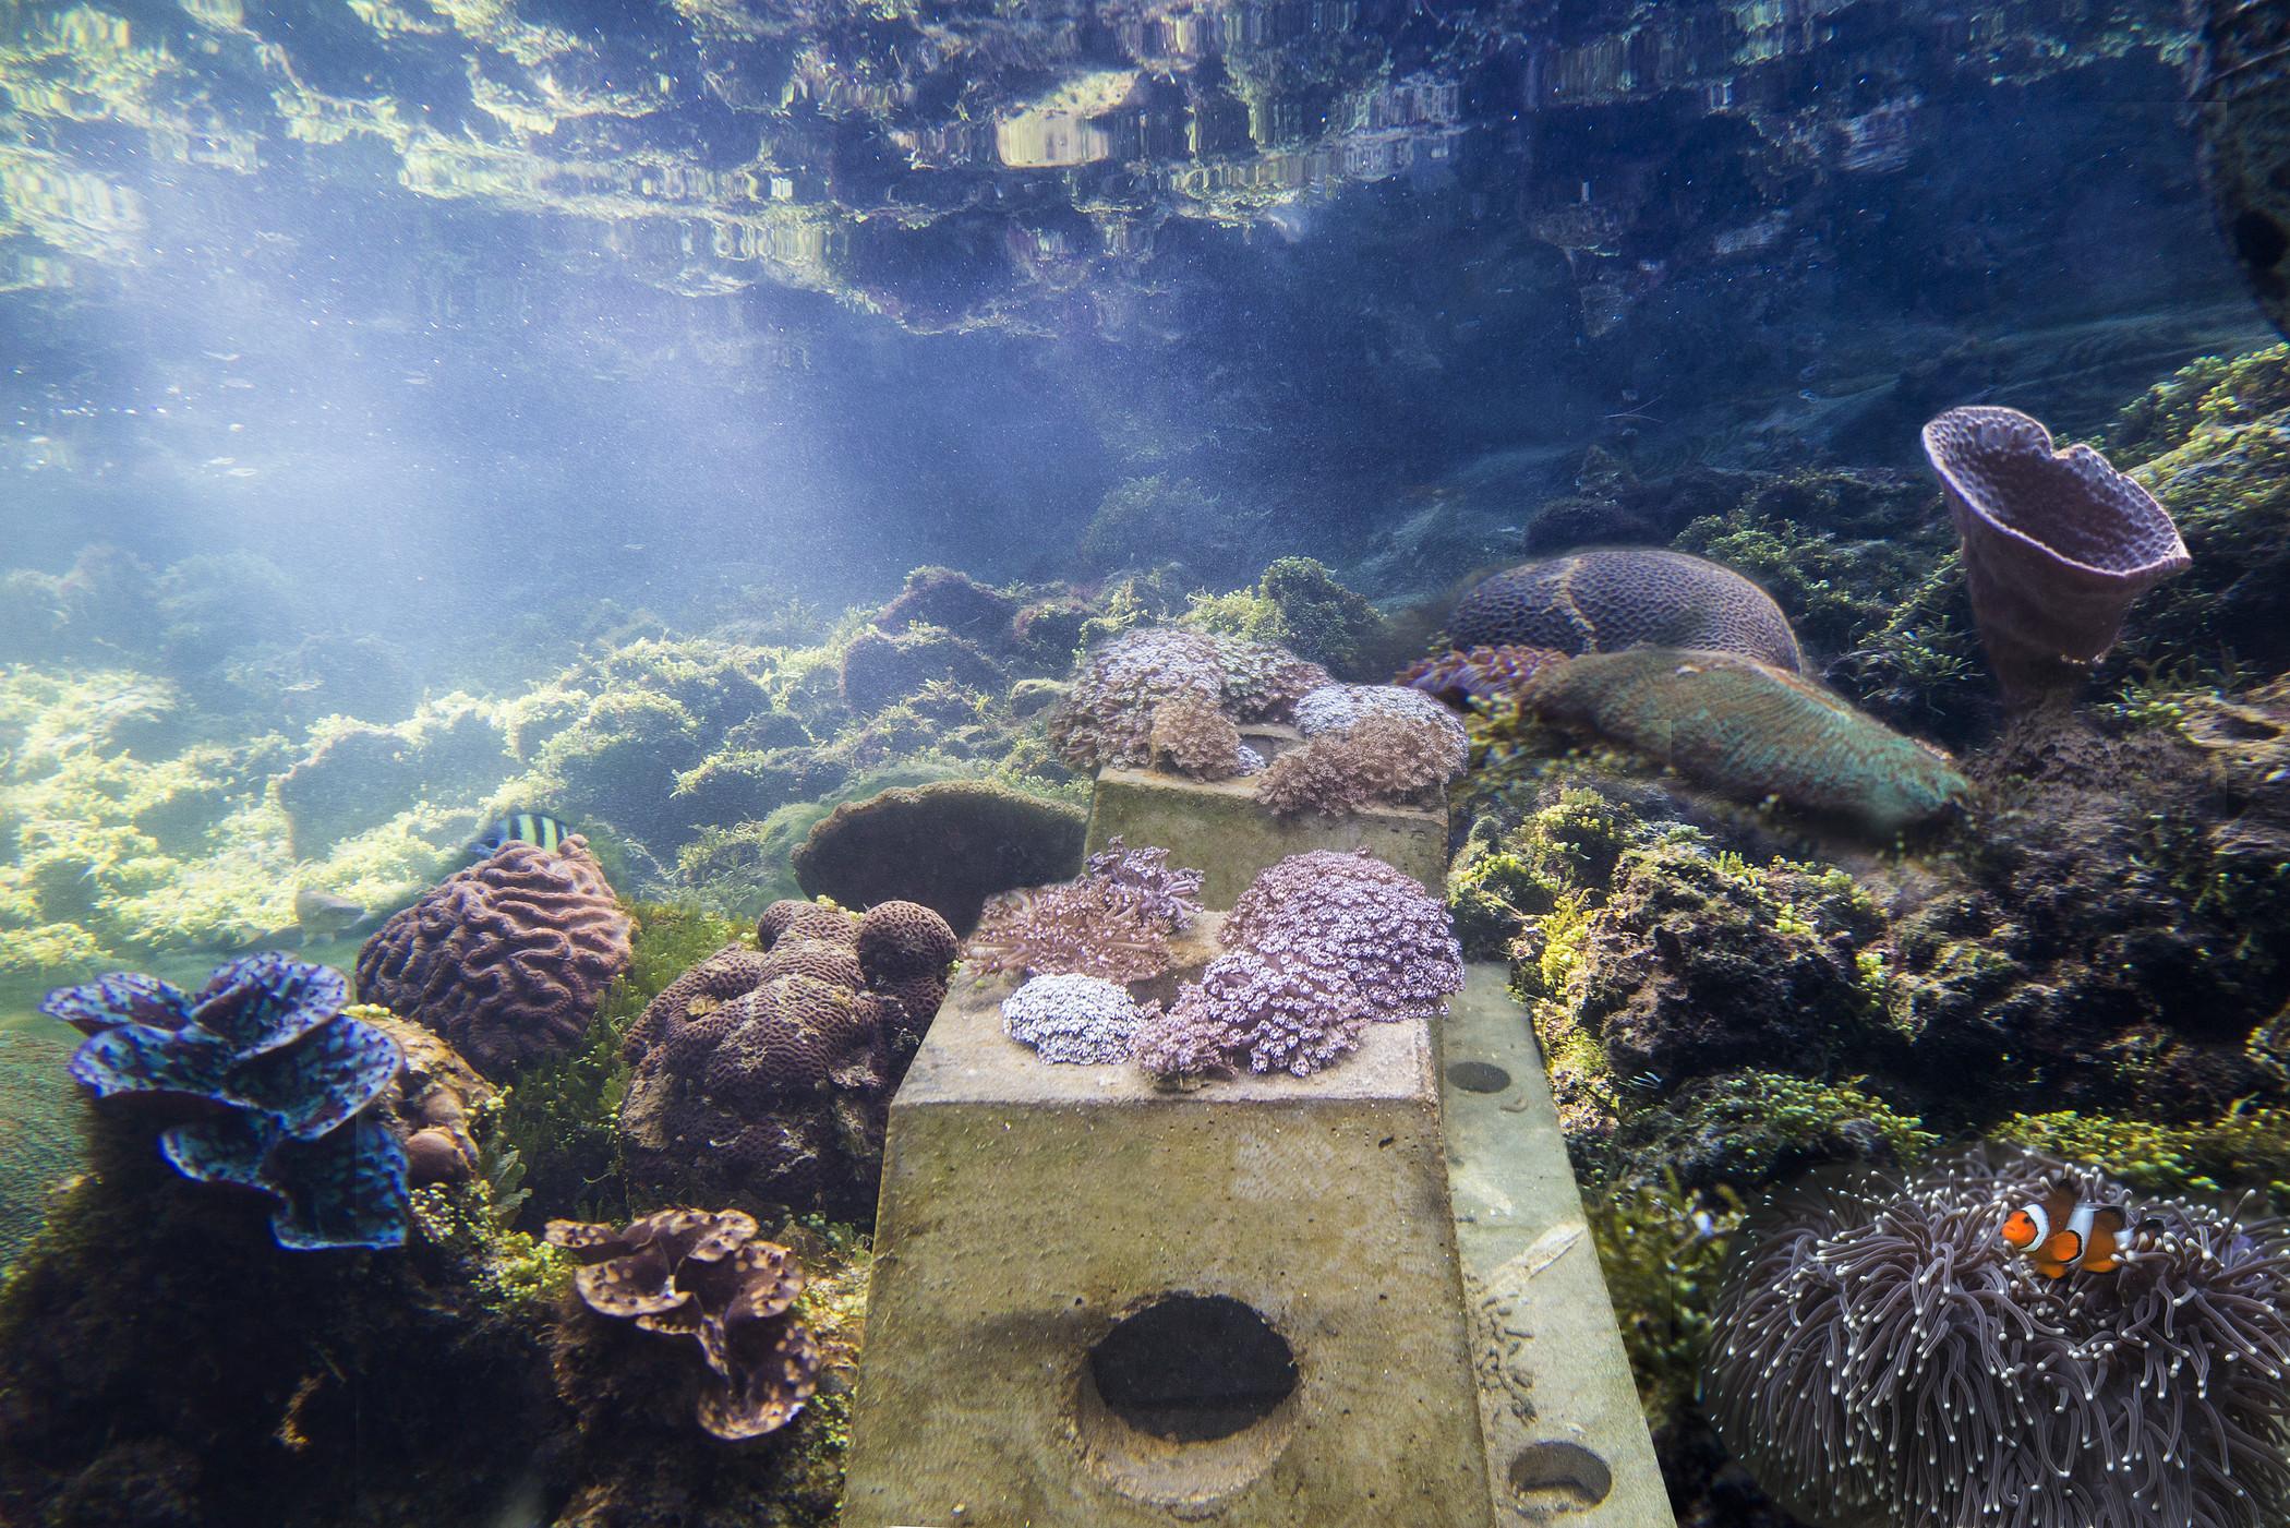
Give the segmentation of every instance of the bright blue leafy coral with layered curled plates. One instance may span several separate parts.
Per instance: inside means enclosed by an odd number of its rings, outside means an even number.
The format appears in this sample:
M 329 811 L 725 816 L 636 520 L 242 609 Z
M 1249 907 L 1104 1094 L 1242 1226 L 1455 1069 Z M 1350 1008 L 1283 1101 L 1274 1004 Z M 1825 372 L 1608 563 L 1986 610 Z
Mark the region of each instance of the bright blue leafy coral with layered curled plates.
M 403 1246 L 405 1152 L 369 1109 L 398 1047 L 344 1017 L 337 971 L 286 955 L 218 967 L 197 994 L 153 976 L 50 992 L 41 1013 L 80 1029 L 71 1074 L 96 1097 L 174 1102 L 158 1148 L 195 1182 L 270 1196 L 279 1246 Z

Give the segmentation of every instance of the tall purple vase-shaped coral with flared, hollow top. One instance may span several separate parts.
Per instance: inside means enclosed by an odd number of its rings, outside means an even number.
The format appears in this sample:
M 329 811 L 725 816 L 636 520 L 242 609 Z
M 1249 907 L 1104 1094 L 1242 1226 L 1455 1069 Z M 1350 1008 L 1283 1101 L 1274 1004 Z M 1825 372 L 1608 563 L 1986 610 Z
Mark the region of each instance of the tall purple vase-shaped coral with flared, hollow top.
M 2187 543 L 2146 488 L 2013 408 L 1951 408 L 1924 426 L 1949 490 L 1965 584 L 2006 694 L 2075 685 L 2123 612 L 2187 570 Z

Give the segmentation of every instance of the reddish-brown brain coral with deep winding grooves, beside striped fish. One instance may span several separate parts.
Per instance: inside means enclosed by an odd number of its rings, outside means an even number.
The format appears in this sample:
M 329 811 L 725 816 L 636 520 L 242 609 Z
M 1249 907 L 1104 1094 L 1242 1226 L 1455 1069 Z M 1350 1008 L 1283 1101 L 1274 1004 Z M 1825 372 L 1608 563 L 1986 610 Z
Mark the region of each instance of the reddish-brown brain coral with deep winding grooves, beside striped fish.
M 627 914 L 575 834 L 444 877 L 357 951 L 357 994 L 511 1077 L 577 1045 L 627 962 Z

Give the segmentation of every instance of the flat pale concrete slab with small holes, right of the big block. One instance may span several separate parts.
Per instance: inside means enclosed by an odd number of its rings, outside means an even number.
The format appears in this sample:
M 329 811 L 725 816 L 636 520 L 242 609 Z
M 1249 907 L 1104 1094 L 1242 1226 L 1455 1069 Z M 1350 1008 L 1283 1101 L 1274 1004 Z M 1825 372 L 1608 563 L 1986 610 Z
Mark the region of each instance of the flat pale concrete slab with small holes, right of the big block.
M 1440 1022 L 1447 1182 L 1500 1521 L 1674 1528 L 1550 1081 L 1500 964 Z

